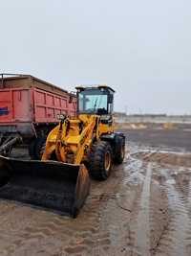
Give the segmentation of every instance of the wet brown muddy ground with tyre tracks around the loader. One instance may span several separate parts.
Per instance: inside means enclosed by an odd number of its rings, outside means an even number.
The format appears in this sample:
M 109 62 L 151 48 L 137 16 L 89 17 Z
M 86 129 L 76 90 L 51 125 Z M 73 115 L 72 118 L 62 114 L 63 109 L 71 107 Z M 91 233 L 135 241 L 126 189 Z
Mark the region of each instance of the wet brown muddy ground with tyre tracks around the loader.
M 124 163 L 76 219 L 0 200 L 0 256 L 191 255 L 191 132 L 125 132 Z

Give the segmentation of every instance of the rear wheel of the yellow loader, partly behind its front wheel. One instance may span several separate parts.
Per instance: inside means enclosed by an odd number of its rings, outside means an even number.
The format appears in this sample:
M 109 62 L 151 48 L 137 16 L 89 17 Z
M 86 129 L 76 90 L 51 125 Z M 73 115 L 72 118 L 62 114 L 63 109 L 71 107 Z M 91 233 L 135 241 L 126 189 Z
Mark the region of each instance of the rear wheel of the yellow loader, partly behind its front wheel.
M 117 135 L 115 141 L 115 157 L 114 163 L 119 165 L 122 164 L 125 157 L 125 138 Z

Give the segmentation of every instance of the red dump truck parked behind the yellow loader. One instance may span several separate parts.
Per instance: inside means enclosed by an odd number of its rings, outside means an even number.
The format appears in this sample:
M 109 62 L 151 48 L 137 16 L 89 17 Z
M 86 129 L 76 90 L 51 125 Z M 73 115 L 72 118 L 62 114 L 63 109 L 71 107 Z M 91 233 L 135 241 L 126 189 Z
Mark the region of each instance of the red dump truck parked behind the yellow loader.
M 0 153 L 9 155 L 22 142 L 32 159 L 40 158 L 57 115 L 74 116 L 76 96 L 31 75 L 0 74 Z

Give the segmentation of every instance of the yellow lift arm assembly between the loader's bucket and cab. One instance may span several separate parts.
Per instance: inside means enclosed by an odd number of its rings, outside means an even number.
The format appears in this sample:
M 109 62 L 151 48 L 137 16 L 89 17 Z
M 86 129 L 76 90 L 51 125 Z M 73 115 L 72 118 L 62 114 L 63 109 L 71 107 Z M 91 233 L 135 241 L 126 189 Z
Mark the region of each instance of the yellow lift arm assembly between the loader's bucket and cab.
M 81 120 L 80 120 L 81 118 Z M 73 164 L 81 164 L 88 154 L 94 140 L 97 139 L 96 126 L 99 117 L 91 115 L 90 117 L 80 117 L 79 122 L 64 118 L 59 125 L 50 133 L 46 150 L 43 153 L 42 160 L 47 161 L 52 159 L 52 155 L 61 162 L 70 162 L 71 159 L 67 157 L 68 154 L 73 154 Z M 80 132 L 79 124 L 83 128 Z M 75 130 L 77 135 L 71 136 L 70 132 Z M 56 134 L 56 135 L 55 135 Z

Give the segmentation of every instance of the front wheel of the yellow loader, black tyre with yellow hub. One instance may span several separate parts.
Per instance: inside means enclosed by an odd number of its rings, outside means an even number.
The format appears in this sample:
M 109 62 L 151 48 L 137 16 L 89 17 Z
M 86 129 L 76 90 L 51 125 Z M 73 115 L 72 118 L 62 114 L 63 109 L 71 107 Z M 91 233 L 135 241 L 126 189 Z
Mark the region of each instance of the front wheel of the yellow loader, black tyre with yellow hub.
M 108 178 L 112 170 L 112 148 L 106 141 L 98 141 L 93 146 L 89 158 L 90 175 L 97 180 Z

